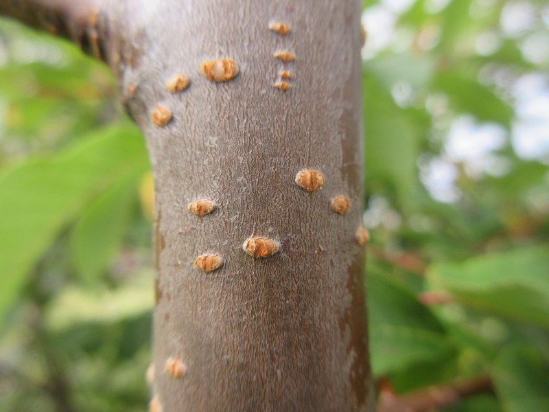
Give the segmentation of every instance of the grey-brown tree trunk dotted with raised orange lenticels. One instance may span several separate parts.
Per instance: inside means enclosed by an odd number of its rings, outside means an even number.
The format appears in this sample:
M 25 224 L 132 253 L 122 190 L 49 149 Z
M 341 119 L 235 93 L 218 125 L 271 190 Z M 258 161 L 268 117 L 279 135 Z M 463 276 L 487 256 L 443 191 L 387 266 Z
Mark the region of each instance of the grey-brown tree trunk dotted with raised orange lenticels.
M 150 150 L 152 409 L 373 411 L 360 2 L 53 3 L 86 5 L 84 49 L 113 67 Z

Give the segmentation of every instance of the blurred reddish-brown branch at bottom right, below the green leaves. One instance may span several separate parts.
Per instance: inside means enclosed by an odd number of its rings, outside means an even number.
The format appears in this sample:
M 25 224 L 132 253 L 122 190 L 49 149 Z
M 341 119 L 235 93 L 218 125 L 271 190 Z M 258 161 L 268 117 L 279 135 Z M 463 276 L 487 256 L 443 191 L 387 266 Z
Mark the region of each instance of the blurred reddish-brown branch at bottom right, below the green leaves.
M 448 407 L 467 396 L 491 391 L 492 382 L 488 376 L 480 376 L 466 381 L 429 387 L 408 393 L 399 398 L 384 398 L 377 412 L 424 412 Z

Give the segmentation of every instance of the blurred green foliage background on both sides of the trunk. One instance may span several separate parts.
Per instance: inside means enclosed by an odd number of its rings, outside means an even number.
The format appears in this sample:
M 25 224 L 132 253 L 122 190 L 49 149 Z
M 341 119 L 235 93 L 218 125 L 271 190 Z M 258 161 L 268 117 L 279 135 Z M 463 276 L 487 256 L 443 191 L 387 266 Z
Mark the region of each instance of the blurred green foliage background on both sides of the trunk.
M 549 4 L 364 1 L 382 398 L 549 411 Z M 0 411 L 144 411 L 153 187 L 108 69 L 0 20 Z

